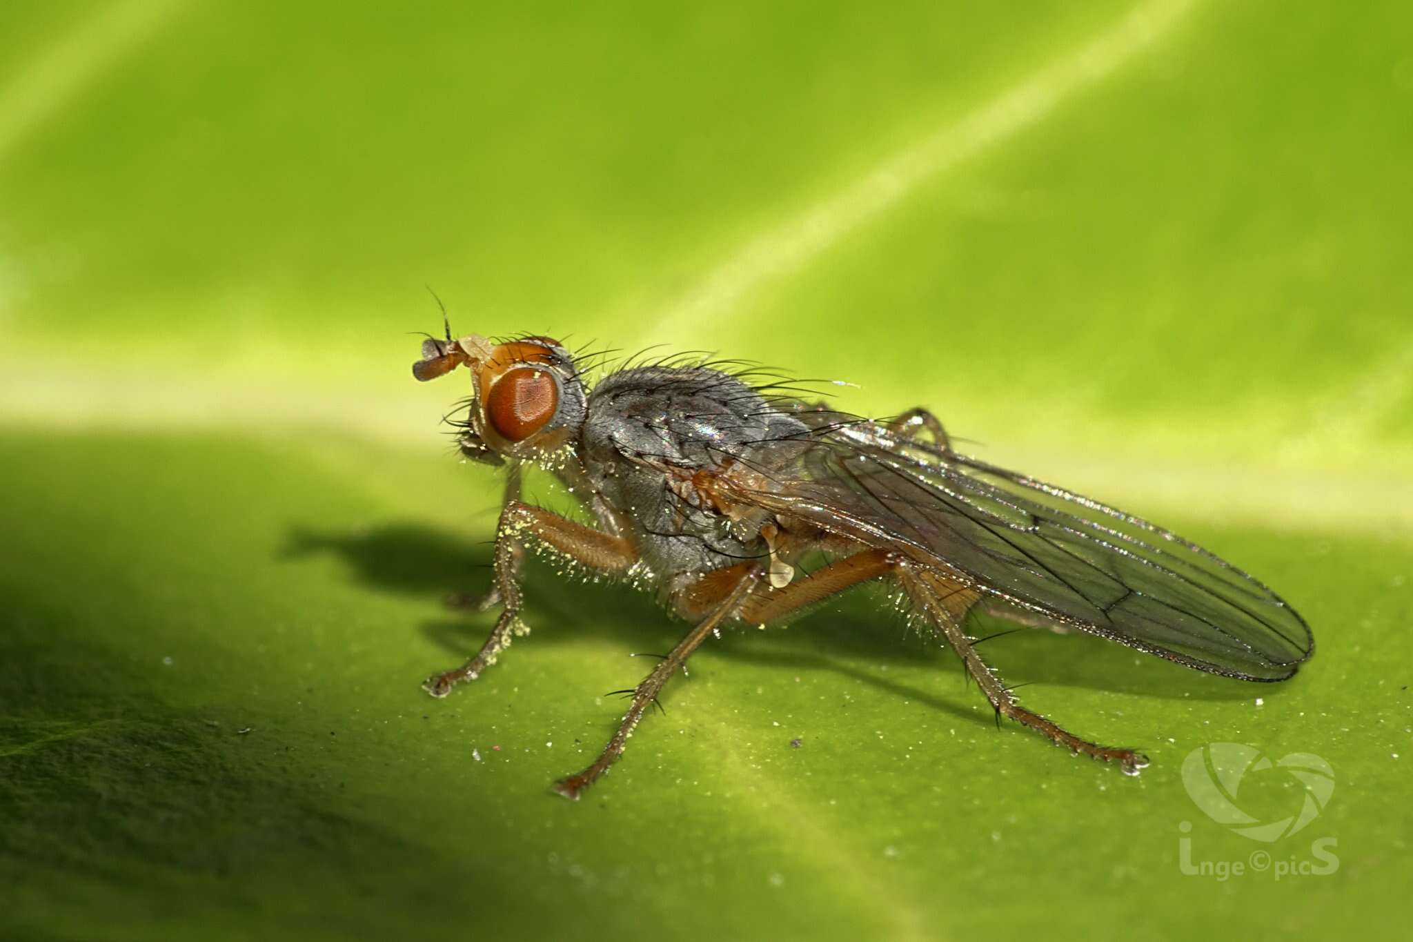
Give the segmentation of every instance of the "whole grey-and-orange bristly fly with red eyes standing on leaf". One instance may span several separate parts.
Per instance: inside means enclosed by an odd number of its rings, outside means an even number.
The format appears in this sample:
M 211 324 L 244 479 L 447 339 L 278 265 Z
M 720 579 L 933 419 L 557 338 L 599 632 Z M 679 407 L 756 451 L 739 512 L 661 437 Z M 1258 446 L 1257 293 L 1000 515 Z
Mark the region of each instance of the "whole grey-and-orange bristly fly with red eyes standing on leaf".
M 560 780 L 578 798 L 608 771 L 670 676 L 728 624 L 764 626 L 869 580 L 901 589 L 914 620 L 957 652 L 992 709 L 1136 775 L 1147 758 L 1099 746 L 1022 706 L 964 631 L 985 610 L 1078 630 L 1198 671 L 1283 681 L 1314 641 L 1275 592 L 1137 517 L 952 449 L 914 408 L 865 419 L 752 386 L 721 364 L 623 366 L 592 387 L 558 340 L 430 338 L 413 366 L 465 366 L 459 445 L 507 465 L 493 582 L 500 614 L 466 664 L 427 681 L 447 696 L 495 664 L 520 627 L 524 542 L 663 595 L 692 628 L 643 681 L 598 758 Z M 596 525 L 520 500 L 520 466 L 547 469 Z M 803 556 L 822 555 L 814 572 Z

